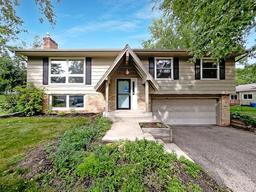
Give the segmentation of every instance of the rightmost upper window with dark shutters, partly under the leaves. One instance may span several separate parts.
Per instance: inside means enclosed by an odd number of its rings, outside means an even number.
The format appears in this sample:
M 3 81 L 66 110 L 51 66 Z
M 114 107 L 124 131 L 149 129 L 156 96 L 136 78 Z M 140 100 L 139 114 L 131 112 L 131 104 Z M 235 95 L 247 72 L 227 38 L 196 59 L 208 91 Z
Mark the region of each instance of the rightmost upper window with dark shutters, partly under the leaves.
M 219 65 L 212 58 L 201 58 L 201 79 L 219 79 Z

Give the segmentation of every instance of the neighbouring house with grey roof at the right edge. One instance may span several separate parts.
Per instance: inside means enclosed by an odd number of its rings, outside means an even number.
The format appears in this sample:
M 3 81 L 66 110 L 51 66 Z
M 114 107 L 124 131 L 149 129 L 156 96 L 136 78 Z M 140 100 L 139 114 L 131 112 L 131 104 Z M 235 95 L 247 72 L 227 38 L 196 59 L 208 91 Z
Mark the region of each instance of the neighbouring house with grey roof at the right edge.
M 230 94 L 230 105 L 250 105 L 256 102 L 256 83 L 236 86 L 236 94 Z

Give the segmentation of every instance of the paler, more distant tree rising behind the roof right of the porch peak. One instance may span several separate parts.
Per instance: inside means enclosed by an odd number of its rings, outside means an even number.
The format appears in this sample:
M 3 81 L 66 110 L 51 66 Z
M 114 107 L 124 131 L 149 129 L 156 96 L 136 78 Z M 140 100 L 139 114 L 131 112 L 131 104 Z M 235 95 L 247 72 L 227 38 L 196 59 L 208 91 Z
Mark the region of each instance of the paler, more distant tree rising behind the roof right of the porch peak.
M 190 47 L 192 28 L 186 24 L 176 23 L 168 16 L 152 18 L 149 40 L 141 40 L 144 48 L 187 49 Z

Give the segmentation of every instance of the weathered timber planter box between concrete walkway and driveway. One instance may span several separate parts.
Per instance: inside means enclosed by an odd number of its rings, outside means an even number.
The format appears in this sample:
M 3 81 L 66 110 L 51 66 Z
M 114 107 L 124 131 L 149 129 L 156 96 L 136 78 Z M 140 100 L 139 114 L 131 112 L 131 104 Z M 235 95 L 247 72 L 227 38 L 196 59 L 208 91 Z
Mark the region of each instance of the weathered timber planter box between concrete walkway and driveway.
M 163 142 L 172 143 L 172 128 L 142 128 L 144 133 L 150 133 L 155 139 L 162 139 Z

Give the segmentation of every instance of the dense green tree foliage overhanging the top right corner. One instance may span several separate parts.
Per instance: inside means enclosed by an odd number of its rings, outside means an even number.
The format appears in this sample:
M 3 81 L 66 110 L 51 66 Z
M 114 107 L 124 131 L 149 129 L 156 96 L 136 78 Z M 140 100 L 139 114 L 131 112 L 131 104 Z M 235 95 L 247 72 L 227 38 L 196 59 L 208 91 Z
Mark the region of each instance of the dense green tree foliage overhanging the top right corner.
M 189 46 L 193 61 L 203 56 L 217 62 L 232 52 L 242 52 L 244 43 L 255 29 L 255 0 L 152 0 L 170 20 L 191 26 Z

